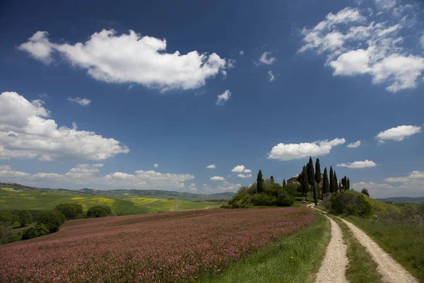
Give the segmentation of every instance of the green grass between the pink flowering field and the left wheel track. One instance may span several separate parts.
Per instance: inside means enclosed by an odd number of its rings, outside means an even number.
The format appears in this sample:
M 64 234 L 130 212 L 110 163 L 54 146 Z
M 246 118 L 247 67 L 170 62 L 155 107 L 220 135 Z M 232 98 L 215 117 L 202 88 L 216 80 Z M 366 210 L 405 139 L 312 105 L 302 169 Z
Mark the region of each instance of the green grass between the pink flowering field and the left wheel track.
M 330 237 L 329 221 L 315 212 L 310 226 L 231 262 L 222 275 L 205 275 L 196 282 L 313 282 Z

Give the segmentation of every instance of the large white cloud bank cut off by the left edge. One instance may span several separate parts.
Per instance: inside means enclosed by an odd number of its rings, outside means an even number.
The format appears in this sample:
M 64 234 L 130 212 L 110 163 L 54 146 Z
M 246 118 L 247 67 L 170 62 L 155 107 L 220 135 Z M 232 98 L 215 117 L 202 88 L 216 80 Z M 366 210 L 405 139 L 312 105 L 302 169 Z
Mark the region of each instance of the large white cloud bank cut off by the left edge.
M 104 160 L 129 149 L 95 132 L 58 127 L 42 100 L 30 103 L 15 92 L 0 95 L 0 159 Z

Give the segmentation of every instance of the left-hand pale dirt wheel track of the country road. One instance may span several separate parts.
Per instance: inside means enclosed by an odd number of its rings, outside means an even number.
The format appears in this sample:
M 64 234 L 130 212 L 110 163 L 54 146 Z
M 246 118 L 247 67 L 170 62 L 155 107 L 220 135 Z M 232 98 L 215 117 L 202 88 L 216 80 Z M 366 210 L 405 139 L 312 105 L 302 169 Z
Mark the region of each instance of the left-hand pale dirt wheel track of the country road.
M 324 260 L 317 273 L 317 283 L 347 283 L 346 267 L 348 266 L 348 257 L 346 251 L 348 246 L 343 241 L 343 234 L 336 221 L 327 217 L 331 223 L 331 240 L 327 247 Z

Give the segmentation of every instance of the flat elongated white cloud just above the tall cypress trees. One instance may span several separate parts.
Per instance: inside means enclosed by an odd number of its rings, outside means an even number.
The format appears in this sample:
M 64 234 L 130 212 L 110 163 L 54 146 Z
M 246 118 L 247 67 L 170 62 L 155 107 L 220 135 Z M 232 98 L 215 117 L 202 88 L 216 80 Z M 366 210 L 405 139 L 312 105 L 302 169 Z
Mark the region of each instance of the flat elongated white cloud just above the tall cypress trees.
M 269 159 L 288 161 L 308 156 L 322 156 L 329 154 L 333 146 L 344 144 L 345 139 L 333 139 L 331 141 L 302 142 L 300 144 L 277 144 L 268 154 Z

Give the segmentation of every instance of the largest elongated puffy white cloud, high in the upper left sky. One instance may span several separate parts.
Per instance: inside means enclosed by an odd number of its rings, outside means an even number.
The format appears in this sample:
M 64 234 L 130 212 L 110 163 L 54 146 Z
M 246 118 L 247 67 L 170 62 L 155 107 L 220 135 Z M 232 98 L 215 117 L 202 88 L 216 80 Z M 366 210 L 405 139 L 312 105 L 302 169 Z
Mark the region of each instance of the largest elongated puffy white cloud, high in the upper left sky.
M 74 45 L 53 43 L 47 36 L 47 32 L 38 31 L 18 49 L 46 64 L 52 62 L 52 54 L 58 53 L 73 67 L 87 69 L 94 79 L 107 83 L 140 83 L 161 91 L 187 90 L 204 86 L 206 79 L 225 69 L 226 64 L 216 53 L 166 52 L 165 39 L 142 37 L 134 30 L 122 35 L 102 30 Z

